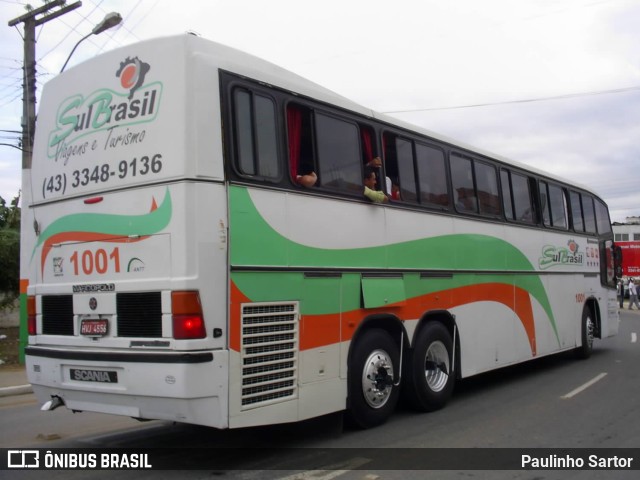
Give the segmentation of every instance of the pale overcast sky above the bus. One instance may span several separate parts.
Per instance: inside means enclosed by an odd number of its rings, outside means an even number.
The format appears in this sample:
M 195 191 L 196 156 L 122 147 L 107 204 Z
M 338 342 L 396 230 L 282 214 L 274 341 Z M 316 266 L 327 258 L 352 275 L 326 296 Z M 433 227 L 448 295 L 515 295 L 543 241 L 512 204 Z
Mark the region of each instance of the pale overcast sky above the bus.
M 43 4 L 30 2 L 34 8 Z M 67 4 L 74 3 L 73 0 Z M 0 0 L 0 196 L 20 190 L 24 0 Z M 640 216 L 640 0 L 82 0 L 36 30 L 37 88 L 70 66 L 195 32 L 365 107 L 586 185 Z M 17 133 L 18 132 L 18 133 Z

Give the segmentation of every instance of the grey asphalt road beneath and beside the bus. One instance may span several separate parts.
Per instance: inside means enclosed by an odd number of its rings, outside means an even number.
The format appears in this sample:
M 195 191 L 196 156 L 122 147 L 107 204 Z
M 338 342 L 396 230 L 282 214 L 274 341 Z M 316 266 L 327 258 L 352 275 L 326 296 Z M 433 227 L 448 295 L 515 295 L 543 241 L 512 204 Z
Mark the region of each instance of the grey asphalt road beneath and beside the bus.
M 187 447 L 192 450 L 170 453 L 175 455 L 176 465 L 202 464 L 203 452 L 208 457 L 205 460 L 212 460 L 214 465 L 216 458 L 231 464 L 230 468 L 202 471 L 46 473 L 53 479 L 117 475 L 118 478 L 156 480 L 211 478 L 212 475 L 287 480 L 425 478 L 424 471 L 387 469 L 402 462 L 407 448 L 518 448 L 532 455 L 539 448 L 640 449 L 640 343 L 637 340 L 640 314 L 624 311 L 621 319 L 619 335 L 597 341 L 588 360 L 575 360 L 563 354 L 474 377 L 457 385 L 445 409 L 417 414 L 400 408 L 387 424 L 372 430 L 344 430 L 341 416 L 331 415 L 293 425 L 216 431 L 164 422 L 138 423 L 108 415 L 73 414 L 64 409 L 40 412 L 33 396 L 24 395 L 0 404 L 0 447 Z M 222 447 L 239 450 L 225 452 L 220 450 Z M 271 447 L 284 449 L 254 450 Z M 309 450 L 300 453 L 287 448 Z M 335 448 L 342 449 L 346 456 L 332 456 L 331 450 L 327 450 Z M 245 450 L 246 454 L 242 453 Z M 447 450 L 417 452 L 451 453 Z M 298 471 L 296 460 L 300 456 L 308 457 L 302 464 L 313 468 Z M 640 463 L 638 456 L 634 460 Z M 362 469 L 349 471 L 358 466 Z M 409 459 L 407 466 L 415 467 L 415 463 Z M 43 474 L 8 473 L 11 478 L 42 478 Z M 466 477 L 626 479 L 637 478 L 638 472 L 436 471 L 428 475 L 428 478 Z

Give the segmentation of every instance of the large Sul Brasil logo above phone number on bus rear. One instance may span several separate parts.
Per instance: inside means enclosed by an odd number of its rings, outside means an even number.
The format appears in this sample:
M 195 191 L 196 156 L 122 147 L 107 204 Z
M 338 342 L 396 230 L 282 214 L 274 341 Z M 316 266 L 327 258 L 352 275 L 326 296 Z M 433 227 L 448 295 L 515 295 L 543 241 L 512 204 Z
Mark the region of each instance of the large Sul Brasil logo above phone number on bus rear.
M 65 98 L 57 109 L 55 127 L 49 133 L 49 158 L 68 158 L 92 148 L 86 136 L 155 120 L 160 109 L 162 83 L 145 84 L 151 66 L 138 57 L 127 57 L 115 72 L 118 91 L 99 88 L 84 96 Z

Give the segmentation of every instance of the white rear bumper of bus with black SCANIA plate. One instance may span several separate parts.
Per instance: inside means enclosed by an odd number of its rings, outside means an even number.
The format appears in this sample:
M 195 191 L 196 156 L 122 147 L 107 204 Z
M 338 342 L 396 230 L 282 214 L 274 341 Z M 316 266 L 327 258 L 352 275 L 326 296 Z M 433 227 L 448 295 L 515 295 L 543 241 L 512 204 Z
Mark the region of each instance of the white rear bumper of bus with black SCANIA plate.
M 228 352 L 26 349 L 40 403 L 71 410 L 228 427 Z

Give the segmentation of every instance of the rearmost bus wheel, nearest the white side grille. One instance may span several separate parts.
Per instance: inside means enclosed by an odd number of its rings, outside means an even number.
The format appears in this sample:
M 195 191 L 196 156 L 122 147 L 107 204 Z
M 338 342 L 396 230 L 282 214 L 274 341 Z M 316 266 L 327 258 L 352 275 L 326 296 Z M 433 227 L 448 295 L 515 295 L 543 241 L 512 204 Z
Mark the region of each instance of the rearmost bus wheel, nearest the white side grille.
M 389 334 L 381 329 L 365 332 L 353 347 L 348 373 L 347 419 L 359 428 L 387 421 L 396 408 L 400 354 Z

